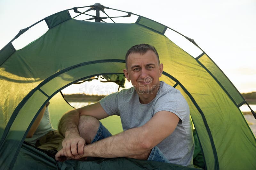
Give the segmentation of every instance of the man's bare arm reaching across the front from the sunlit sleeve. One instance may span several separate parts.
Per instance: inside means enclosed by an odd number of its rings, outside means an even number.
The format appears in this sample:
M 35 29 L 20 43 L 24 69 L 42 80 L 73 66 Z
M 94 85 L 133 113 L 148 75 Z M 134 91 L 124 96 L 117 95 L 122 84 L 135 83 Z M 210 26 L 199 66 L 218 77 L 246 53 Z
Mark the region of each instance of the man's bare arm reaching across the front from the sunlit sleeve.
M 145 125 L 129 129 L 115 136 L 102 139 L 90 145 L 84 146 L 83 156 L 71 157 L 80 159 L 83 157 L 133 157 L 151 150 L 168 137 L 176 128 L 179 117 L 168 111 L 160 111 Z M 56 159 L 61 160 L 65 154 L 60 151 Z

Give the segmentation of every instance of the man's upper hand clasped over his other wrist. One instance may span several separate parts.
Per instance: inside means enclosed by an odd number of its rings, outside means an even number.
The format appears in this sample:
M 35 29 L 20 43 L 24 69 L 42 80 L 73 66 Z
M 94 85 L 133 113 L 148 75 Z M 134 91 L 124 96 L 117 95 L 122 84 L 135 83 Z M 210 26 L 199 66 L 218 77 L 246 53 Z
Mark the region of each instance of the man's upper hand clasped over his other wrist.
M 66 156 L 72 159 L 79 155 L 82 156 L 84 153 L 84 145 L 85 140 L 78 133 L 69 133 L 62 141 L 63 153 L 61 152 L 61 156 Z

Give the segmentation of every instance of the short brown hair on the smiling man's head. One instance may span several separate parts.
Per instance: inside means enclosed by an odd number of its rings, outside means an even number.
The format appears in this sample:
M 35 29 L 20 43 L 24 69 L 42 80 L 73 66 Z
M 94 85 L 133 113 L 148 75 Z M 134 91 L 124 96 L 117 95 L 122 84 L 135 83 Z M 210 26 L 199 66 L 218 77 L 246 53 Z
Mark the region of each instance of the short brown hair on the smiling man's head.
M 145 54 L 148 50 L 151 50 L 151 51 L 153 51 L 156 54 L 157 60 L 158 60 L 158 64 L 160 64 L 159 56 L 158 56 L 158 53 L 157 53 L 156 48 L 154 46 L 150 46 L 148 44 L 139 44 L 139 45 L 132 46 L 127 51 L 127 53 L 125 55 L 125 68 L 127 69 L 127 59 L 128 59 L 128 56 L 131 53 Z

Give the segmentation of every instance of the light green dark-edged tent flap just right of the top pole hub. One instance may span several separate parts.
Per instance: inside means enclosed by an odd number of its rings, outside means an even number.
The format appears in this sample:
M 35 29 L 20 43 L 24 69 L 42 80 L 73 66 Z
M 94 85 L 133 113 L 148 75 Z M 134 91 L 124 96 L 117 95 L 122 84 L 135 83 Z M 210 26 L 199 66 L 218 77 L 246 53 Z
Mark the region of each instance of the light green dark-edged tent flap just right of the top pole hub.
M 153 21 L 151 19 L 141 17 L 141 16 L 137 19 L 136 24 L 146 26 L 146 27 L 151 28 L 157 32 L 160 32 L 161 34 L 164 34 L 164 32 L 167 29 L 167 26 L 162 25 L 162 24 L 160 24 L 156 21 Z

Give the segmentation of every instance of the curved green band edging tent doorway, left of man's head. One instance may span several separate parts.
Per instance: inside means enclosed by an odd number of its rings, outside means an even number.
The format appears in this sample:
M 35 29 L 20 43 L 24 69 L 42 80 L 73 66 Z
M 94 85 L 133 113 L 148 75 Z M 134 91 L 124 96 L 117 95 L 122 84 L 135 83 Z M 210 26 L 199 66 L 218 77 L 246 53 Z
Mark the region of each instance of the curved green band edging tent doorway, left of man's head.
M 102 67 L 102 66 L 97 66 L 97 65 L 102 65 L 102 64 L 106 64 L 108 63 L 109 64 L 109 67 L 106 68 L 106 67 Z M 112 64 L 110 64 L 112 63 Z M 43 106 L 54 96 L 56 95 L 60 90 L 66 88 L 67 86 L 77 82 L 77 81 L 80 81 L 80 80 L 84 80 L 84 79 L 87 79 L 87 78 L 90 78 L 90 77 L 93 77 L 93 76 L 97 76 L 97 75 L 105 75 L 105 74 L 123 74 L 123 67 L 124 67 L 124 64 L 125 61 L 124 60 L 100 60 L 100 61 L 93 61 L 93 62 L 87 62 L 87 63 L 81 63 L 81 64 L 78 64 L 76 66 L 73 66 L 73 67 L 70 67 L 68 69 L 65 69 L 65 70 L 61 70 L 60 72 L 52 75 L 51 77 L 49 77 L 48 79 L 46 79 L 45 81 L 41 82 L 35 89 L 33 89 L 25 98 L 24 100 L 22 100 L 22 102 L 17 106 L 17 108 L 14 110 L 14 113 L 13 113 L 13 116 L 12 118 L 9 120 L 9 122 L 12 121 L 12 123 L 8 124 L 8 126 L 6 127 L 5 131 L 4 131 L 4 134 L 2 136 L 2 145 L 1 147 L 4 147 L 5 145 L 8 145 L 9 141 L 12 140 L 12 137 L 13 135 L 10 136 L 9 134 L 9 131 L 16 131 L 15 129 L 17 129 L 17 125 L 19 125 L 19 128 L 21 129 L 25 129 L 26 127 L 29 127 L 33 124 L 33 121 L 36 119 L 36 116 L 39 114 L 40 110 L 43 108 Z M 120 65 L 119 67 L 113 67 L 113 66 L 117 66 L 117 65 Z M 54 78 L 58 78 L 61 77 L 63 74 L 67 73 L 67 72 L 71 72 L 71 71 L 78 71 L 80 72 L 82 69 L 84 69 L 84 67 L 87 67 L 88 66 L 91 66 L 91 67 L 97 67 L 97 68 L 101 68 L 101 70 L 93 70 L 95 71 L 93 74 L 92 73 L 88 73 L 87 76 L 84 77 L 84 73 L 81 73 L 80 77 L 78 76 L 78 78 L 75 78 L 73 79 L 72 81 L 70 81 L 68 84 L 64 85 L 64 86 L 59 86 L 57 89 L 54 89 L 52 91 L 52 94 L 46 94 L 44 91 L 42 93 L 42 87 L 44 87 L 44 85 L 47 85 L 47 83 L 52 83 L 51 81 L 54 79 Z M 120 69 L 121 68 L 121 69 Z M 90 68 L 89 68 L 90 70 Z M 92 69 L 91 69 L 92 70 Z M 109 72 L 107 72 L 108 70 L 110 70 Z M 74 72 L 74 73 L 76 73 Z M 73 74 L 74 74 L 73 73 Z M 82 76 L 82 77 L 81 77 Z M 54 82 L 54 84 L 56 85 L 56 81 Z M 35 101 L 36 98 L 40 98 L 42 99 L 41 103 L 40 102 L 37 102 L 37 105 L 40 105 L 40 109 L 37 111 L 37 107 L 34 107 L 34 108 L 31 108 L 32 110 L 29 110 L 28 111 L 28 108 L 25 108 L 24 110 L 26 111 L 23 111 L 22 108 L 23 107 L 29 107 L 29 106 L 34 106 L 33 102 Z M 43 103 L 43 104 L 42 104 Z M 36 115 L 35 116 L 28 116 L 29 114 L 27 114 L 27 112 L 30 114 L 30 115 Z M 20 126 L 20 117 L 25 117 L 27 115 L 27 117 L 33 117 L 33 119 L 31 119 L 31 121 L 29 121 L 29 125 L 27 124 L 22 124 L 23 127 Z M 19 116 L 19 117 L 16 117 L 16 116 Z M 18 120 L 18 122 L 16 122 L 15 120 Z M 8 122 L 8 123 L 9 123 Z M 15 126 L 16 127 L 13 127 Z M 26 128 L 27 129 L 27 128 Z M 14 151 L 14 157 L 13 157 L 13 161 L 12 162 L 15 162 L 14 160 L 16 159 L 19 151 L 20 151 L 20 147 L 22 145 L 22 142 L 24 141 L 25 137 L 26 137 L 26 133 L 28 133 L 28 129 L 24 132 L 22 132 L 21 134 L 19 132 L 17 132 L 15 134 L 15 138 L 18 139 L 16 140 L 16 142 L 12 142 L 12 151 Z M 17 137 L 17 136 L 20 136 L 20 137 Z

